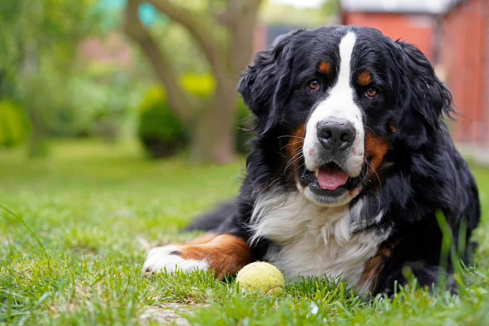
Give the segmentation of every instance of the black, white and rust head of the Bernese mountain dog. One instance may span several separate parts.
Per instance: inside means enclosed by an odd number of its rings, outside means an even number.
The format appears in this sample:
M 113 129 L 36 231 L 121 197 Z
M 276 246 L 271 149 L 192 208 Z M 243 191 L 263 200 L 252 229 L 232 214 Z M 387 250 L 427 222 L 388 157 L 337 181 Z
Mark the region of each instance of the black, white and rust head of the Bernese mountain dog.
M 257 137 L 277 143 L 277 178 L 328 206 L 381 185 L 394 143 L 425 146 L 451 110 L 450 93 L 415 46 L 354 26 L 281 37 L 256 55 L 238 91 Z

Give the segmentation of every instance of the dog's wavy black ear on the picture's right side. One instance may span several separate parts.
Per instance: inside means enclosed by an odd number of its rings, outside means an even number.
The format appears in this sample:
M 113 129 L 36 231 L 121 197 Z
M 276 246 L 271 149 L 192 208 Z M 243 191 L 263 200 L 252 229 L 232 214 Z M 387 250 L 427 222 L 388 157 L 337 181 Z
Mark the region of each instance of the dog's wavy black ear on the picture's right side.
M 420 147 L 436 135 L 443 123 L 443 113 L 449 118 L 451 113 L 455 114 L 452 96 L 416 46 L 396 43 L 400 49 L 396 105 L 401 109 L 397 127 L 408 144 Z

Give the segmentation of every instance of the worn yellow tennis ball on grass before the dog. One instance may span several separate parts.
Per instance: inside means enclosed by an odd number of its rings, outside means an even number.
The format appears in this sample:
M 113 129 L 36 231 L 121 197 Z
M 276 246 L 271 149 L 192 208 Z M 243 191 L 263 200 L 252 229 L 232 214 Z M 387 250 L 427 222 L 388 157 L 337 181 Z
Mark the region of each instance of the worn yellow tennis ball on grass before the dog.
M 236 276 L 240 289 L 264 294 L 278 294 L 284 291 L 284 276 L 277 267 L 266 262 L 254 262 L 244 266 Z

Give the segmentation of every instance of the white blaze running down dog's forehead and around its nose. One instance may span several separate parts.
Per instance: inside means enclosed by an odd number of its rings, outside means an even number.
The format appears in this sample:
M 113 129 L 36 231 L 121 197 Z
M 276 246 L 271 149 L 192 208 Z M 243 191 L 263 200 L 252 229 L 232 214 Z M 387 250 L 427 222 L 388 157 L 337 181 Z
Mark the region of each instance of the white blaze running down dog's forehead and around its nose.
M 356 129 L 355 141 L 351 146 L 351 155 L 348 160 L 348 174 L 360 173 L 363 163 L 364 130 L 362 112 L 355 102 L 355 90 L 351 83 L 352 78 L 352 55 L 355 47 L 356 35 L 349 31 L 339 43 L 339 73 L 336 83 L 329 90 L 329 95 L 311 114 L 306 128 L 306 139 L 304 141 L 304 157 L 306 167 L 314 170 L 318 167 L 317 150 L 321 147 L 317 139 L 317 123 L 328 119 L 347 120 Z

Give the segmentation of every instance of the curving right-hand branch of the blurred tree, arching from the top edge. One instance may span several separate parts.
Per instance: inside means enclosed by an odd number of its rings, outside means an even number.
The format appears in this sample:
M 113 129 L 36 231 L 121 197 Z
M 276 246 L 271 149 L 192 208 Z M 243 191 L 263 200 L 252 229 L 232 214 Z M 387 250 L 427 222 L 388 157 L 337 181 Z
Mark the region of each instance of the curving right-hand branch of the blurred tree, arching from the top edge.
M 210 61 L 212 69 L 216 75 L 222 74 L 222 49 L 218 43 L 211 37 L 212 26 L 207 24 L 206 18 L 199 13 L 183 8 L 169 0 L 149 0 L 156 9 L 165 13 L 170 19 L 183 25 L 199 43 L 207 59 Z

